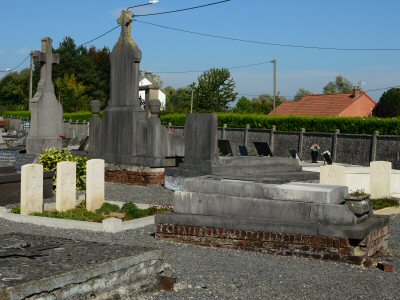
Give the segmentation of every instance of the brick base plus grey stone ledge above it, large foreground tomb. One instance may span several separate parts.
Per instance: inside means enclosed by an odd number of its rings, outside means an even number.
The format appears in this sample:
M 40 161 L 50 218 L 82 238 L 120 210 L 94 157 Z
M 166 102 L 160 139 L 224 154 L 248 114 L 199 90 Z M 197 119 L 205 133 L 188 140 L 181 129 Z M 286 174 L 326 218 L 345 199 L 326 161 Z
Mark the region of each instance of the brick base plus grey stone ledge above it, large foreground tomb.
M 172 223 L 169 222 L 171 219 Z M 382 255 L 388 247 L 390 228 L 387 219 L 371 220 L 368 230 L 365 224 L 347 230 L 343 226 L 319 225 L 322 235 L 312 235 L 307 233 L 310 228 L 301 229 L 298 224 L 267 224 L 249 220 L 241 222 L 220 216 L 213 218 L 171 213 L 156 217 L 156 238 L 361 265 L 369 257 Z M 198 226 L 199 223 L 205 226 Z M 242 229 L 238 224 L 242 225 Z M 360 236 L 360 228 L 363 226 L 364 233 Z M 335 232 L 338 236 L 330 235 L 329 232 Z

